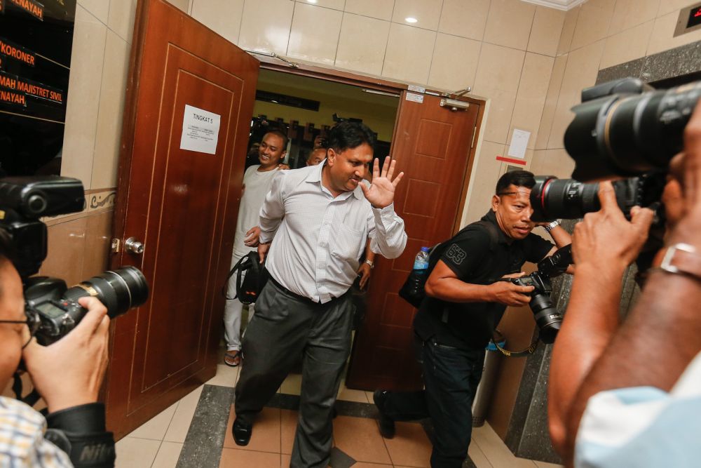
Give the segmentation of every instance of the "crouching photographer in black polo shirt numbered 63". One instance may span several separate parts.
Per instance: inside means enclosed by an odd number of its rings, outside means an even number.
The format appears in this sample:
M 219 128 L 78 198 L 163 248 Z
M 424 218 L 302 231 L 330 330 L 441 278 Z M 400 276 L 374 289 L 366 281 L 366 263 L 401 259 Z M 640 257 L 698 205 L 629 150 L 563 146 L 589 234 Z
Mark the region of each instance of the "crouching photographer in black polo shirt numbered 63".
M 545 225 L 557 247 L 531 234 L 533 174 L 505 173 L 491 210 L 444 250 L 426 281 L 426 299 L 414 319 L 421 342 L 426 390 L 374 394 L 380 432 L 394 436 L 394 422 L 431 417 L 435 441 L 431 466 L 461 467 L 472 432 L 472 399 L 482 377 L 484 347 L 507 306 L 528 305 L 532 286 L 497 281 L 520 276 L 525 262 L 539 262 L 571 242 L 557 222 Z

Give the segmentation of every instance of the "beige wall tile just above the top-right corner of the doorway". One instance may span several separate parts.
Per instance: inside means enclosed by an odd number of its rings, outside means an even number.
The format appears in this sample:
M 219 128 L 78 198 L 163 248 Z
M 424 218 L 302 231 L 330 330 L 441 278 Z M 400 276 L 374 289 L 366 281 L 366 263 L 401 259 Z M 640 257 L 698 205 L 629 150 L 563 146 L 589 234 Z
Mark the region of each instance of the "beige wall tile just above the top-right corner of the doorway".
M 476 88 L 499 88 L 516 92 L 523 69 L 524 51 L 482 44 L 477 66 Z

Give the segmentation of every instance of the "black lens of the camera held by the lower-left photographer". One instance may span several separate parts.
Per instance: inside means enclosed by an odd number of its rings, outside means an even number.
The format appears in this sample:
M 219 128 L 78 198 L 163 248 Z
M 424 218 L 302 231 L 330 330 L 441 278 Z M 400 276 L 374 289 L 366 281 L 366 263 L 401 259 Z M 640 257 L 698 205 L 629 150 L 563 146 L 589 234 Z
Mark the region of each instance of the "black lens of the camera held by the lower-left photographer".
M 149 285 L 139 269 L 123 267 L 93 276 L 64 294 L 69 300 L 85 296 L 97 297 L 107 307 L 107 315 L 114 319 L 130 308 L 144 304 L 149 297 Z

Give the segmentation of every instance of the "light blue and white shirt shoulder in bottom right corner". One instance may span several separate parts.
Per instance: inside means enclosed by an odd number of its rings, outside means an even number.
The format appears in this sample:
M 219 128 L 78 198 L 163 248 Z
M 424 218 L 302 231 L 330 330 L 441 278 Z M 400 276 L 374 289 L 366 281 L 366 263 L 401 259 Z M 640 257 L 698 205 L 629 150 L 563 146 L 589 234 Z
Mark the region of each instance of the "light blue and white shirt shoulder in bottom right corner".
M 587 403 L 578 468 L 701 466 L 701 354 L 667 393 L 655 387 L 599 392 Z

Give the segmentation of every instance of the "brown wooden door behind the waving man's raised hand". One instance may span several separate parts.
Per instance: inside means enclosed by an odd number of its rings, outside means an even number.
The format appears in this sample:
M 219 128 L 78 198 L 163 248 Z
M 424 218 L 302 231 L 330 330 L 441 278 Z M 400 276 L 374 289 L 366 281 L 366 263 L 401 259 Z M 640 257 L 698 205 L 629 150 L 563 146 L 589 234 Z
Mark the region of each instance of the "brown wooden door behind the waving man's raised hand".
M 400 258 L 376 262 L 367 293 L 365 323 L 359 330 L 346 385 L 358 389 L 417 389 L 421 375 L 412 348 L 416 309 L 397 295 L 422 246 L 433 246 L 454 232 L 472 166 L 472 134 L 479 105 L 451 111 L 440 98 L 423 102 L 404 91 L 391 154 L 404 171 L 395 210 L 404 219 L 407 248 Z

